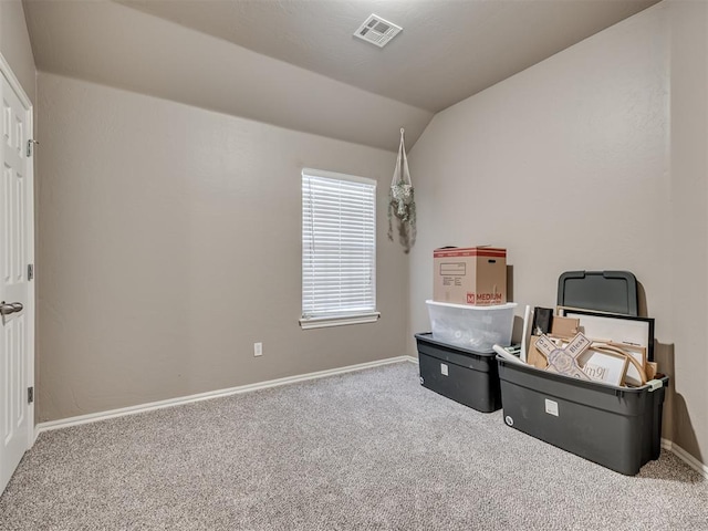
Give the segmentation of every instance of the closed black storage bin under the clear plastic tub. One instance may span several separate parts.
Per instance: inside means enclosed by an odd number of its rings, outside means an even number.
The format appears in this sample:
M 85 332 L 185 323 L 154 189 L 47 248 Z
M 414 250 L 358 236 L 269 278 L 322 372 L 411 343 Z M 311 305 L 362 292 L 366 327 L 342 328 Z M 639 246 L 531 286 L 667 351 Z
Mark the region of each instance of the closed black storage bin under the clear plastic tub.
M 441 343 L 431 333 L 416 334 L 420 384 L 482 413 L 501 407 L 496 354 Z

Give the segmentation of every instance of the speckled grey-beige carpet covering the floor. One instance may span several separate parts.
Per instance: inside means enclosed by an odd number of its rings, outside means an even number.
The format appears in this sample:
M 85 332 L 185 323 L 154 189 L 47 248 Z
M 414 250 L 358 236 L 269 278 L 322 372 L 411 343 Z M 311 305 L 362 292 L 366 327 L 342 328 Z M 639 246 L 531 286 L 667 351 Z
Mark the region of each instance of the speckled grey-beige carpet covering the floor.
M 708 530 L 670 452 L 626 477 L 398 363 L 43 433 L 1 530 Z

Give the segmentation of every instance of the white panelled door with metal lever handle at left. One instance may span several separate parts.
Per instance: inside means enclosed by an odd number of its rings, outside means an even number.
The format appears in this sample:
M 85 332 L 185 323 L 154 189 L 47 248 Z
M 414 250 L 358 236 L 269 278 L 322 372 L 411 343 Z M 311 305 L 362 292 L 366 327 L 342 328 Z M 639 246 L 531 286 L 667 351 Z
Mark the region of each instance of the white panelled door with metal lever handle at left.
M 0 144 L 0 493 L 33 442 L 33 256 L 32 167 L 28 156 L 32 119 L 29 100 L 2 66 Z M 14 87 L 13 87 L 14 86 Z M 19 93 L 18 93 L 19 91 Z M 24 100 L 24 104 L 22 103 Z

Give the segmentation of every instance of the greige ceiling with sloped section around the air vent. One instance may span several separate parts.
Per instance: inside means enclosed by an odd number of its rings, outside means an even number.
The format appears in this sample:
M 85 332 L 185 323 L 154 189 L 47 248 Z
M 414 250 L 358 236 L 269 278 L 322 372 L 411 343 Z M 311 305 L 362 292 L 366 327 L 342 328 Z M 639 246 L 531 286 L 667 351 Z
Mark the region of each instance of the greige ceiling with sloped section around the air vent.
M 24 0 L 38 69 L 386 149 L 657 0 Z M 379 49 L 372 13 L 404 28 Z

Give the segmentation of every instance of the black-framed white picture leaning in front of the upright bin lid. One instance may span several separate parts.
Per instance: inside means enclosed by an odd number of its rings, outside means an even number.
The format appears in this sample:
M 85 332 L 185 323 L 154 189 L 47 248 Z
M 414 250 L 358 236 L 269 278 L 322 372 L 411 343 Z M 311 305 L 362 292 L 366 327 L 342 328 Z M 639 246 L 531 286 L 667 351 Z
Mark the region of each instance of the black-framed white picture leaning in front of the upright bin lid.
M 654 319 L 558 306 L 558 314 L 580 319 L 580 330 L 592 341 L 617 346 L 644 347 L 646 361 L 654 361 Z M 637 354 L 638 356 L 639 354 Z M 642 355 L 643 356 L 643 355 Z

